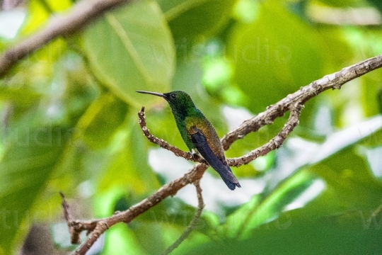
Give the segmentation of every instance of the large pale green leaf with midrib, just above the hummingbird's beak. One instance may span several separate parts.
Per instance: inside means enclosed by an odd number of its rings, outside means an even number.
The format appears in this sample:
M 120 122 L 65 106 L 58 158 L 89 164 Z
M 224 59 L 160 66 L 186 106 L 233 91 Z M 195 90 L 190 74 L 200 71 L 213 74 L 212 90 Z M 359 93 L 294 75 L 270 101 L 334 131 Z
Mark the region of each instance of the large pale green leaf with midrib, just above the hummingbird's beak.
M 83 48 L 94 74 L 127 103 L 147 102 L 137 90 L 168 91 L 170 87 L 175 67 L 173 39 L 154 1 L 138 1 L 105 13 L 83 33 Z

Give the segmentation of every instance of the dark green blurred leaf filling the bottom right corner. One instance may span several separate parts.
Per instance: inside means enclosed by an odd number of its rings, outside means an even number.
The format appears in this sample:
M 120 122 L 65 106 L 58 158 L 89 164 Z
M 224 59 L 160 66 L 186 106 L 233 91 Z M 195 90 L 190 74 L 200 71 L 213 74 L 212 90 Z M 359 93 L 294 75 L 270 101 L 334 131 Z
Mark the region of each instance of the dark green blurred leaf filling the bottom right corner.
M 187 254 L 378 254 L 381 223 L 370 223 L 361 211 L 311 218 L 303 209 L 284 215 L 255 229 L 250 239 L 209 242 Z

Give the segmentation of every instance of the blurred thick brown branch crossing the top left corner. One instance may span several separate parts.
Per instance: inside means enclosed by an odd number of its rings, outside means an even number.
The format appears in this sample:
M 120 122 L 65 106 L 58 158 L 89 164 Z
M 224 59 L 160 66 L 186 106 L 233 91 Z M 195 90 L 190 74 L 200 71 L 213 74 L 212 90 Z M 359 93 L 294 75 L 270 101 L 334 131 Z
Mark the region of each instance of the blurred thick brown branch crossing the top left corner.
M 51 40 L 60 36 L 69 36 L 93 21 L 94 18 L 116 6 L 131 3 L 132 0 L 84 0 L 79 1 L 64 16 L 54 16 L 50 22 L 37 33 L 25 38 L 18 45 L 6 50 L 0 56 L 0 78 L 18 63 Z

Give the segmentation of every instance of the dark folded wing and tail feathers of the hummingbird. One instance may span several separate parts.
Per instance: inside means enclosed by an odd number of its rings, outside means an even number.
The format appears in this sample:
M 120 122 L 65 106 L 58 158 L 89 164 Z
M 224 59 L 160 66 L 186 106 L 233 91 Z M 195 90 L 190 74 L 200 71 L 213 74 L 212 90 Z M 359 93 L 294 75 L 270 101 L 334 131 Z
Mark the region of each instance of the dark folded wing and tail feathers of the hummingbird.
M 212 152 L 211 147 L 207 142 L 207 137 L 204 136 L 202 130 L 199 130 L 195 126 L 191 128 L 191 140 L 197 151 L 206 159 L 208 164 L 215 169 L 221 176 L 221 179 L 226 183 L 228 188 L 234 190 L 236 186 L 240 187 L 238 180 L 233 176 L 231 169 L 229 168 L 225 159 L 219 159 L 219 157 Z

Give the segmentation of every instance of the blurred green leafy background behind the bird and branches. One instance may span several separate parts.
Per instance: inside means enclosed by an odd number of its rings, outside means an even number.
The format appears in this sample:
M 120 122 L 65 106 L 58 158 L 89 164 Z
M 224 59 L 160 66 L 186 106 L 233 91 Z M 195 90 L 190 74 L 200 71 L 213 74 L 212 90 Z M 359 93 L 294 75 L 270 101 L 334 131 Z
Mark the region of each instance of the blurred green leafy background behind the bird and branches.
M 73 4 L 30 0 L 2 10 L 0 50 Z M 379 26 L 348 17 L 365 8 Z M 345 21 L 316 18 L 330 11 Z M 136 90 L 187 91 L 223 136 L 301 86 L 381 54 L 381 12 L 371 0 L 145 0 L 45 45 L 0 80 L 0 254 L 75 249 L 59 191 L 75 217 L 107 217 L 190 169 L 141 134 L 137 112 L 146 106 L 151 132 L 186 149 L 166 102 Z M 231 192 L 207 171 L 206 210 L 173 254 L 380 253 L 381 77 L 376 70 L 309 101 L 281 149 L 233 169 L 243 188 Z M 286 118 L 227 156 L 267 142 Z M 196 205 L 185 187 L 109 229 L 91 254 L 158 254 Z

